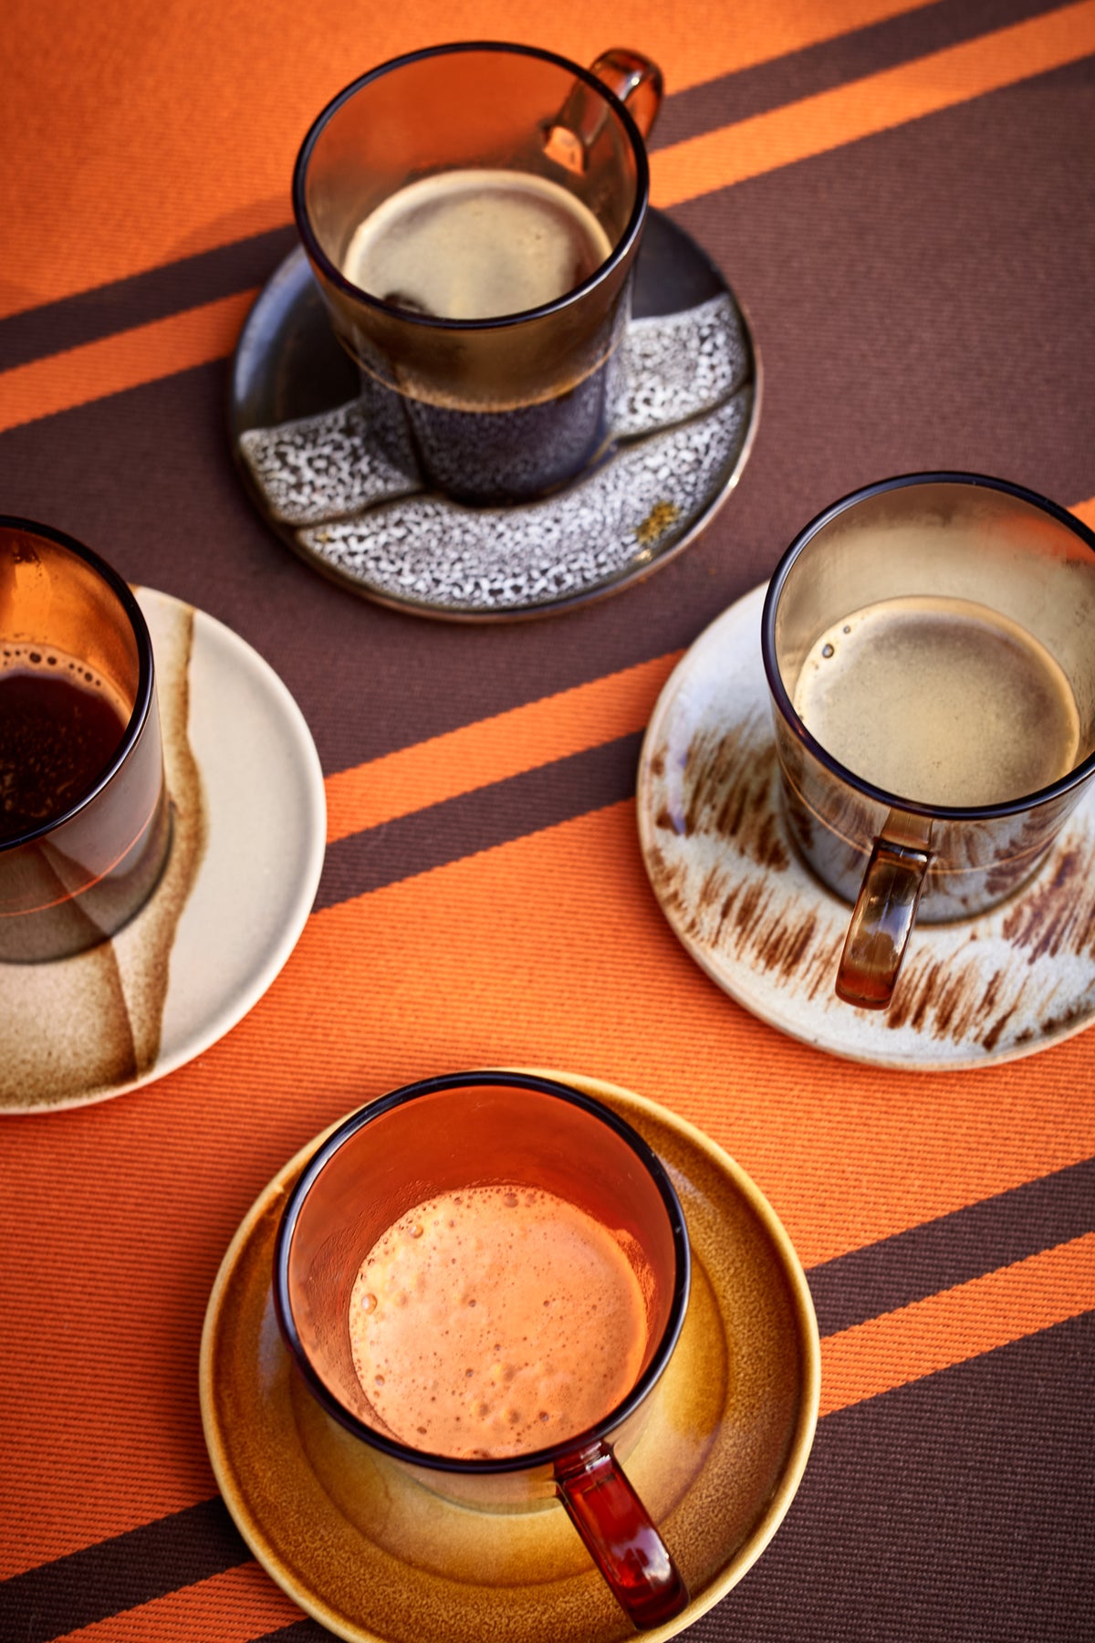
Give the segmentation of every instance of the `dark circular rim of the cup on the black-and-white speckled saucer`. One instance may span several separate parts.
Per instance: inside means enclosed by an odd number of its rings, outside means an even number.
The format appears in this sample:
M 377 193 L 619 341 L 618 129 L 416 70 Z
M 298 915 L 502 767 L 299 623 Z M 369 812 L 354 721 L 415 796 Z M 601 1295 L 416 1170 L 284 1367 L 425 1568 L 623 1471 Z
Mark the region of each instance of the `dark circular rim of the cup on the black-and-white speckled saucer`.
M 632 146 L 632 153 L 635 156 L 635 202 L 632 205 L 630 217 L 627 219 L 627 225 L 617 243 L 612 246 L 609 256 L 606 256 L 606 260 L 598 268 L 594 268 L 594 271 L 586 279 L 583 279 L 580 286 L 575 286 L 571 291 L 565 291 L 560 297 L 555 297 L 552 302 L 542 302 L 538 307 L 532 309 L 519 309 L 515 314 L 494 314 L 486 319 L 443 319 L 438 314 L 412 314 L 409 309 L 396 307 L 396 304 L 392 302 L 383 302 L 379 297 L 374 297 L 368 291 L 363 291 L 361 286 L 355 286 L 351 279 L 346 279 L 341 268 L 338 268 L 330 260 L 330 256 L 320 245 L 318 237 L 315 235 L 309 217 L 309 209 L 305 200 L 307 169 L 315 145 L 318 143 L 330 120 L 333 120 L 338 110 L 345 104 L 348 104 L 353 97 L 356 97 L 360 90 L 364 90 L 364 87 L 369 85 L 373 81 L 379 79 L 383 74 L 391 74 L 396 69 L 409 67 L 412 62 L 422 62 L 427 58 L 455 56 L 460 53 L 471 53 L 471 51 L 506 53 L 520 58 L 538 58 L 543 62 L 552 62 L 557 67 L 565 69 L 568 74 L 576 76 L 578 79 L 584 81 L 591 90 L 598 92 L 609 105 L 619 123 L 624 127 L 627 140 Z M 647 145 L 632 115 L 629 113 L 627 107 L 621 102 L 621 99 L 616 95 L 616 92 L 609 85 L 606 85 L 604 81 L 599 81 L 596 74 L 593 74 L 589 69 L 584 69 L 580 62 L 571 62 L 570 58 L 563 58 L 557 51 L 545 51 L 542 46 L 522 46 L 504 39 L 456 39 L 440 46 L 422 46 L 417 51 L 405 51 L 397 58 L 389 58 L 386 62 L 379 62 L 374 69 L 368 69 L 364 74 L 358 76 L 356 81 L 351 81 L 348 85 L 343 85 L 343 89 L 337 92 L 323 108 L 320 108 L 318 115 L 309 127 L 304 141 L 300 143 L 300 148 L 297 151 L 297 159 L 292 168 L 292 214 L 296 217 L 297 233 L 300 235 L 300 242 L 304 245 L 304 250 L 307 251 L 309 260 L 318 265 L 318 268 L 323 273 L 323 278 L 330 281 L 330 284 L 333 284 L 345 296 L 351 297 L 355 302 L 363 302 L 366 304 L 366 307 L 376 309 L 378 314 L 383 314 L 389 319 L 396 319 L 405 325 L 422 327 L 424 330 L 445 330 L 445 332 L 451 330 L 463 334 L 504 330 L 506 327 L 511 325 L 525 324 L 525 320 L 545 319 L 550 314 L 558 314 L 563 309 L 570 307 L 571 304 L 580 302 L 593 289 L 596 289 L 596 286 L 602 284 L 630 255 L 630 250 L 635 240 L 639 238 L 639 230 L 642 228 L 648 202 L 650 202 L 650 163 L 647 159 Z

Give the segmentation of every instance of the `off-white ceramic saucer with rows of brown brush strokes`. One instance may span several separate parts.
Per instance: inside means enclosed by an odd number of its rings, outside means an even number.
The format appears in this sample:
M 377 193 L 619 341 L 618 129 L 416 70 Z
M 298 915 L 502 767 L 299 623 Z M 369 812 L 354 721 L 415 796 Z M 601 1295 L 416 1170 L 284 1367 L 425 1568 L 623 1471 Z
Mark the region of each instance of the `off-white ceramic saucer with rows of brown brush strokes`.
M 755 588 L 668 679 L 639 766 L 639 835 L 662 910 L 731 997 L 793 1038 L 877 1066 L 1033 1055 L 1095 1015 L 1095 805 L 1034 879 L 980 918 L 918 925 L 888 1010 L 841 1002 L 850 909 L 783 826 Z

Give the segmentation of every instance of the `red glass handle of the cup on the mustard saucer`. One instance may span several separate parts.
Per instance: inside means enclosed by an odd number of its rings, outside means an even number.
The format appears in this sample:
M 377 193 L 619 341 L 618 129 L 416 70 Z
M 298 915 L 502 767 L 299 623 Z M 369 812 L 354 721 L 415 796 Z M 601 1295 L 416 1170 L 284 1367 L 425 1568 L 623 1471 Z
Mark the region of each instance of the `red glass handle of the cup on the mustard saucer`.
M 555 1489 L 586 1551 L 639 1631 L 688 1604 L 688 1587 L 604 1443 L 555 1466 Z

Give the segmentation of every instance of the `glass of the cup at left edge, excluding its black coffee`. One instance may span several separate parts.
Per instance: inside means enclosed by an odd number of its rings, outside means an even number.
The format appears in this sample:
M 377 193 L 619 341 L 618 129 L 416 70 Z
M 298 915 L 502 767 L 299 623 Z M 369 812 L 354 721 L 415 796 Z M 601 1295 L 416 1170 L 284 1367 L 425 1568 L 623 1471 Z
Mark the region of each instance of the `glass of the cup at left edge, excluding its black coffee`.
M 118 739 L 82 790 L 64 790 L 56 813 L 0 835 L 3 963 L 67 958 L 115 935 L 159 879 L 171 807 L 153 647 L 136 600 L 72 537 L 0 518 L 0 667 L 62 675 L 72 660 L 113 698 Z M 0 769 L 0 800 L 5 780 L 18 777 Z

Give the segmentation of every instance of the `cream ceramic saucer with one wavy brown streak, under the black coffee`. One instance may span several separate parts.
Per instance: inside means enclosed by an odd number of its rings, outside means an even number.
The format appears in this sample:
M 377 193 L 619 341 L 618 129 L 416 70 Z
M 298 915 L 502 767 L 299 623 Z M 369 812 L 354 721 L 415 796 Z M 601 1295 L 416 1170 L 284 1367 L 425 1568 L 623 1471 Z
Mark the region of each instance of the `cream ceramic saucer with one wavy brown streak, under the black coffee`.
M 266 992 L 318 884 L 323 775 L 296 702 L 230 628 L 135 591 L 156 657 L 171 856 L 113 940 L 0 964 L 0 1112 L 120 1096 L 207 1050 Z

